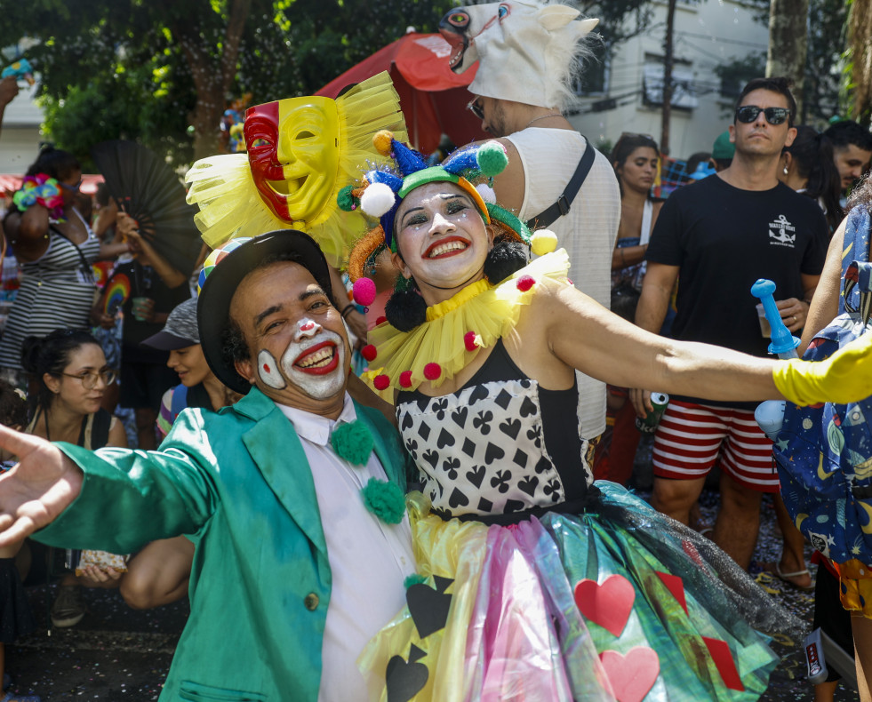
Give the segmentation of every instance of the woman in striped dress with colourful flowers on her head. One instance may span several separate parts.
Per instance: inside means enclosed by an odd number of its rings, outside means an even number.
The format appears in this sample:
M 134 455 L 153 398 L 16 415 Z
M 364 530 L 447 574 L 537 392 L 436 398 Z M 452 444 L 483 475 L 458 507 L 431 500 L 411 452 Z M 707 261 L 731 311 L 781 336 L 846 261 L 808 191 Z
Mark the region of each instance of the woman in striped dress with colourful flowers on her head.
M 0 340 L 4 377 L 23 387 L 21 343 L 58 327 L 82 329 L 94 298 L 92 263 L 129 251 L 103 244 L 76 210 L 82 166 L 72 154 L 44 148 L 28 168 L 3 223 L 5 241 L 21 265 L 22 282 Z

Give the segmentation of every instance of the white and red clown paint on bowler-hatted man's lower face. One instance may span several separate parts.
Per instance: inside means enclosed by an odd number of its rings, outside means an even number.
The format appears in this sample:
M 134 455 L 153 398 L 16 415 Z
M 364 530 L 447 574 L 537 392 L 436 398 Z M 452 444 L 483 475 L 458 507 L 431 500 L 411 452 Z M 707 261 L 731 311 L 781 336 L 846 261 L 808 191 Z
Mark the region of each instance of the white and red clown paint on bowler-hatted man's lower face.
M 319 323 L 303 317 L 297 323 L 297 333 L 284 350 L 280 363 L 276 364 L 275 358 L 266 349 L 260 351 L 260 379 L 276 389 L 285 387 L 287 379 L 306 395 L 324 400 L 340 393 L 345 387 L 348 373 L 345 348 L 345 339 L 339 334 L 325 330 Z M 275 374 L 268 373 L 264 363 Z M 278 382 L 282 384 L 277 385 Z

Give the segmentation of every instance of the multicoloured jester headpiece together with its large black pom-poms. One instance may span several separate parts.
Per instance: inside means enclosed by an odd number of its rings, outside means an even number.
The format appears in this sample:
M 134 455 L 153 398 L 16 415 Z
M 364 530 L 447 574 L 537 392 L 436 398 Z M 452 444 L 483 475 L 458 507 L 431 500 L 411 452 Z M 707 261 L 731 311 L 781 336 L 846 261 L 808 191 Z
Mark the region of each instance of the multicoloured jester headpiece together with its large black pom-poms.
M 484 263 L 484 276 L 499 283 L 523 267 L 527 246 L 537 255 L 553 251 L 556 235 L 541 230 L 534 235 L 512 212 L 500 207 L 493 195 L 492 179 L 508 164 L 506 150 L 497 141 L 458 149 L 445 161 L 428 166 L 416 151 L 396 140 L 388 131 L 379 132 L 373 144 L 381 154 L 390 156 L 392 167 L 374 168 L 364 174 L 362 184 L 342 189 L 339 205 L 343 210 L 362 209 L 380 223 L 356 243 L 348 261 L 348 275 L 354 282 L 355 301 L 364 306 L 375 299 L 375 283 L 365 276 L 381 251 L 397 251 L 394 235 L 396 210 L 406 195 L 428 183 L 448 182 L 467 192 L 485 225 L 496 229 L 494 245 Z M 473 183 L 477 182 L 477 185 Z M 427 305 L 414 279 L 397 276 L 396 289 L 385 306 L 388 323 L 399 331 L 411 331 L 426 319 Z

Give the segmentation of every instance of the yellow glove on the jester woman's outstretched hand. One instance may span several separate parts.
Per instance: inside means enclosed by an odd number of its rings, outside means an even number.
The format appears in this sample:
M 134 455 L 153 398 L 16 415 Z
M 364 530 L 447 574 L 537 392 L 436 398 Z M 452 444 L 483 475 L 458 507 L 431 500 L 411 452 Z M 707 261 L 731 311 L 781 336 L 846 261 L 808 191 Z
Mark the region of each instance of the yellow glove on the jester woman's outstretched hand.
M 855 403 L 872 395 L 872 334 L 840 348 L 826 361 L 793 358 L 772 371 L 775 387 L 791 403 Z

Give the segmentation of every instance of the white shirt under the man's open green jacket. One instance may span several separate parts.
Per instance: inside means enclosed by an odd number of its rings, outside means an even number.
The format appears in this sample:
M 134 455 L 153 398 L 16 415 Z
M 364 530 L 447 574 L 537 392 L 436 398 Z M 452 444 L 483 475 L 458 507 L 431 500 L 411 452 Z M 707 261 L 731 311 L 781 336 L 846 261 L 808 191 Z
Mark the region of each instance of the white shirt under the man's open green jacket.
M 365 466 L 353 466 L 330 445 L 333 427 L 357 419 L 348 394 L 335 421 L 282 404 L 278 407 L 290 419 L 306 452 L 332 572 L 318 700 L 366 702 L 356 658 L 405 604 L 404 578 L 415 571 L 409 518 L 386 524 L 364 506 L 360 491 L 369 479 L 387 480 L 374 451 Z

